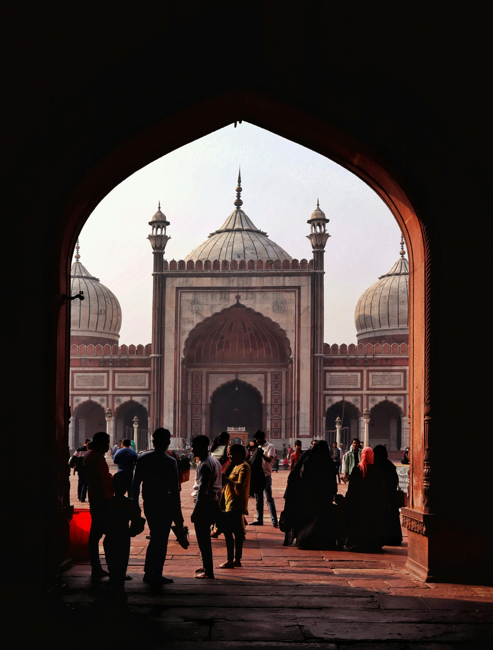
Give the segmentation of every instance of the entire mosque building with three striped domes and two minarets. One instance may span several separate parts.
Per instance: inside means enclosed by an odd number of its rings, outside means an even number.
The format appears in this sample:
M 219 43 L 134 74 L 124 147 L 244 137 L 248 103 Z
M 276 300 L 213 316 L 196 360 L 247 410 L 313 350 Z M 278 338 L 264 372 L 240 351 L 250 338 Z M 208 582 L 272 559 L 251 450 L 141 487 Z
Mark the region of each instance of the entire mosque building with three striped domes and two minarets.
M 160 206 L 149 225 L 153 250 L 150 344 L 120 344 L 121 309 L 81 264 L 71 267 L 70 446 L 95 430 L 112 441 L 164 426 L 171 446 L 226 428 L 265 430 L 281 448 L 335 432 L 398 450 L 409 441 L 409 265 L 401 257 L 361 296 L 357 343 L 323 343 L 323 259 L 329 222 L 307 223 L 311 259 L 292 257 L 242 209 L 183 260 L 167 261 L 170 222 Z M 135 417 L 138 420 L 136 424 Z M 306 446 L 306 444 L 304 445 Z

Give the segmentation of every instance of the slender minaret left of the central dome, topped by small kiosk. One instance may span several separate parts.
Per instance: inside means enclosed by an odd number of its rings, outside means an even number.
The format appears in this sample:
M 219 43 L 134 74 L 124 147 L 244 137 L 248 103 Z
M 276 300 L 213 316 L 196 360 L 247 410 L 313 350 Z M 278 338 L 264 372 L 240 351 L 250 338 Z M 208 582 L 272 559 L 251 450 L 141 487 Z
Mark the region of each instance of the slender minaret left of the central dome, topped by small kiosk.
M 149 425 L 151 433 L 162 426 L 162 368 L 161 350 L 164 339 L 164 312 L 163 305 L 166 294 L 166 279 L 162 276 L 162 259 L 164 249 L 168 243 L 166 216 L 161 212 L 161 203 L 158 204 L 157 213 L 149 221 L 152 232 L 147 237 L 153 247 L 154 268 L 153 268 L 153 332 L 152 332 L 152 354 L 151 354 L 151 400 L 149 403 Z

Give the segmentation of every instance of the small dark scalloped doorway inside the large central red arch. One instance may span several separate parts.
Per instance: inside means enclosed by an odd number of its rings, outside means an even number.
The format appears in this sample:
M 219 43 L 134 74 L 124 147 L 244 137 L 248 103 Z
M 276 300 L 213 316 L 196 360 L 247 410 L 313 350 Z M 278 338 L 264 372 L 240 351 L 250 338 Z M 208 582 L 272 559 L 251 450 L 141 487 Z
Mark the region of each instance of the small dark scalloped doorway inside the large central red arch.
M 262 395 L 247 382 L 223 383 L 210 396 L 209 435 L 212 439 L 228 426 L 244 426 L 249 439 L 262 428 Z M 233 434 L 232 434 L 233 437 Z

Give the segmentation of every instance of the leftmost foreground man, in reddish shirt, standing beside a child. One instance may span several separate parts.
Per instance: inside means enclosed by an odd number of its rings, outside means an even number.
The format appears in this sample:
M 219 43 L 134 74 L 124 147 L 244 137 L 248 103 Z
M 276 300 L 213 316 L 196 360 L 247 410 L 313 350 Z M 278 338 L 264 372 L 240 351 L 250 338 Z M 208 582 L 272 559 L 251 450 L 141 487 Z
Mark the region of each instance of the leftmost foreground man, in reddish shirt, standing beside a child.
M 110 474 L 105 454 L 110 448 L 110 436 L 105 431 L 98 431 L 92 437 L 91 449 L 84 458 L 84 474 L 89 491 L 89 510 L 91 513 L 91 530 L 89 531 L 89 560 L 91 577 L 99 580 L 108 571 L 104 571 L 99 560 L 99 539 L 104 534 L 105 505 L 114 495 L 113 476 Z

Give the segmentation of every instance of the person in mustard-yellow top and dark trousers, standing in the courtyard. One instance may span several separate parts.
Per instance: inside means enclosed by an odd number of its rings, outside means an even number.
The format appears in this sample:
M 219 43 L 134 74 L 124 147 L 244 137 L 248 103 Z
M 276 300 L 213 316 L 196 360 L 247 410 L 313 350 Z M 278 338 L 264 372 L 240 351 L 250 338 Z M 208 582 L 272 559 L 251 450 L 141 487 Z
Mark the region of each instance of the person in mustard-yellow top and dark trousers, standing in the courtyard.
M 248 514 L 250 465 L 245 460 L 245 447 L 239 444 L 231 445 L 229 456 L 234 469 L 229 476 L 223 474 L 226 503 L 226 510 L 223 512 L 223 532 L 226 540 L 227 562 L 218 565 L 218 569 L 234 569 L 242 565 L 243 515 Z

